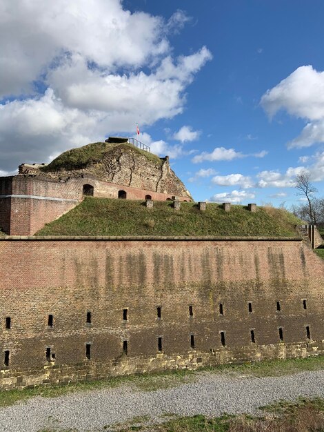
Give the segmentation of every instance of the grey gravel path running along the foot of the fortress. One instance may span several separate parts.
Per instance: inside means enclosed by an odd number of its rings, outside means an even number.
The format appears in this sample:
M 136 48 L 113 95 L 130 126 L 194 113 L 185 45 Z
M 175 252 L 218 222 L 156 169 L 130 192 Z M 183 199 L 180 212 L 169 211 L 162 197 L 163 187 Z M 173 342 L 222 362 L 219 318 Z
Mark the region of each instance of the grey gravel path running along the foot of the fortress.
M 158 419 L 165 413 L 255 413 L 259 406 L 279 399 L 324 397 L 324 371 L 263 378 L 210 372 L 197 376 L 190 384 L 157 391 L 138 391 L 124 385 L 54 398 L 34 397 L 0 409 L 0 431 L 103 431 L 104 426 L 142 415 Z

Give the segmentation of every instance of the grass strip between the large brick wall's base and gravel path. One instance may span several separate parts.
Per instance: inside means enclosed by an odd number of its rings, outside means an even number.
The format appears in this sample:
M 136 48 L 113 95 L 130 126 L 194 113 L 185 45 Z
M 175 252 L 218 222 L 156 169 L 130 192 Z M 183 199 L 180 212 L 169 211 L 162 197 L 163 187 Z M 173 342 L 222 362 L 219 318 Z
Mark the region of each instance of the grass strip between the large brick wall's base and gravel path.
M 219 373 L 234 376 L 282 376 L 301 371 L 319 371 L 324 369 L 324 356 L 306 359 L 269 360 L 257 363 L 223 364 L 213 368 L 202 368 L 199 371 L 183 369 L 181 371 L 163 371 L 145 375 L 125 375 L 108 380 L 75 382 L 64 385 L 37 386 L 34 389 L 0 391 L 0 407 L 12 405 L 30 397 L 57 397 L 74 392 L 101 390 L 129 385 L 137 391 L 155 391 L 170 389 L 175 386 L 199 380 L 201 373 Z

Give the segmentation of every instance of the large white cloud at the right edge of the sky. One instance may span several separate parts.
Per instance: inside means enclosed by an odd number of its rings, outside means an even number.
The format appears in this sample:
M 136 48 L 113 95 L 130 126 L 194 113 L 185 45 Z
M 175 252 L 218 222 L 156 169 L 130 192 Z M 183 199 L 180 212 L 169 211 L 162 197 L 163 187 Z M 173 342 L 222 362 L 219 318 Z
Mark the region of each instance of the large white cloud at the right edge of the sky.
M 261 105 L 270 115 L 286 110 L 294 117 L 309 121 L 301 135 L 288 143 L 288 148 L 309 147 L 324 142 L 324 72 L 312 66 L 301 66 L 267 90 Z

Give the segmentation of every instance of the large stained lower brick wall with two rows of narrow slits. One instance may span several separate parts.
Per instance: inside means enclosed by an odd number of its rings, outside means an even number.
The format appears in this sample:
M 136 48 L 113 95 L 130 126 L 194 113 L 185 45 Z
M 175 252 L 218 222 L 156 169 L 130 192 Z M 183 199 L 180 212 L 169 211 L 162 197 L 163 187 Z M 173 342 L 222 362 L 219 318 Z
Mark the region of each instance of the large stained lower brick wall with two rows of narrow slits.
M 324 353 L 323 261 L 296 239 L 5 239 L 0 268 L 4 387 Z

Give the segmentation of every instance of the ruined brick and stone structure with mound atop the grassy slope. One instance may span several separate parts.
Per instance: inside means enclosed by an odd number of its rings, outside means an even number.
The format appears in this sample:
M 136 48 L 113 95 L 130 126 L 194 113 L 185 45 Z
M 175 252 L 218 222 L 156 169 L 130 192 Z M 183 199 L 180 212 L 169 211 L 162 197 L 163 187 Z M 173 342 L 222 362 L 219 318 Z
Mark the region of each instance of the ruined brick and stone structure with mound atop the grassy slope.
M 0 177 L 0 228 L 8 235 L 33 235 L 85 195 L 192 201 L 168 156 L 128 143 L 94 143 L 68 150 L 48 165 L 22 164 L 19 175 Z

